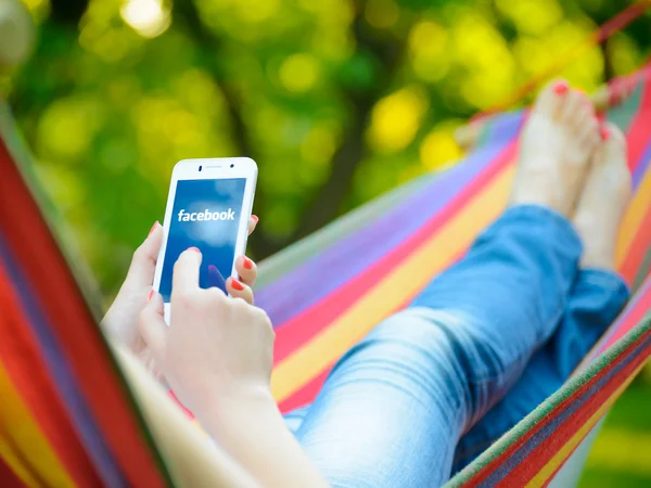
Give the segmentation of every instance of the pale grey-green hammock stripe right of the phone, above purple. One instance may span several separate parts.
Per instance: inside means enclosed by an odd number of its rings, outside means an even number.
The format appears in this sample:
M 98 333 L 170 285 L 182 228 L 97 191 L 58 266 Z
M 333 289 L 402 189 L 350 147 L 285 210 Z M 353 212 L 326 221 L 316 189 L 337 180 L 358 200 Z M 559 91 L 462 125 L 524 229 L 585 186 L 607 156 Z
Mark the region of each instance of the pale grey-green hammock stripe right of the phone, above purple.
M 451 167 L 449 165 L 448 167 Z M 361 207 L 340 217 L 337 220 L 329 223 L 323 229 L 318 230 L 311 235 L 298 241 L 291 246 L 285 247 L 280 253 L 265 259 L 260 264 L 259 279 L 256 288 L 272 283 L 273 281 L 288 274 L 293 269 L 303 265 L 309 258 L 322 253 L 326 248 L 345 239 L 347 235 L 358 231 L 370 220 L 384 215 L 390 208 L 411 195 L 419 188 L 432 181 L 448 167 L 438 170 L 436 174 L 423 175 L 408 183 L 405 183 L 388 193 L 374 198 Z

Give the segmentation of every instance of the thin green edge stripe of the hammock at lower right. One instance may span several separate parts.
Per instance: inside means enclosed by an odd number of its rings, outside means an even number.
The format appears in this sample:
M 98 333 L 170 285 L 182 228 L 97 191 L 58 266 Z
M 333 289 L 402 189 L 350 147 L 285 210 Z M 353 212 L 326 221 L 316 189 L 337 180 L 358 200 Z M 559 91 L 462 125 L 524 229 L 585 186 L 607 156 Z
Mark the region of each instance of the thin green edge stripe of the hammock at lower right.
M 618 357 L 626 354 L 631 346 L 643 334 L 651 330 L 651 316 L 644 318 L 634 329 L 631 329 L 621 341 L 615 343 L 610 349 L 605 350 L 579 375 L 569 380 L 557 393 L 549 397 L 536 410 L 524 418 L 518 425 L 511 428 L 499 440 L 497 440 L 488 450 L 473 461 L 469 466 L 457 474 L 445 486 L 461 487 L 472 480 L 474 476 L 499 458 L 507 449 L 513 446 L 521 437 L 532 431 L 537 424 L 542 422 L 547 415 L 557 409 L 563 401 L 570 398 L 583 385 L 597 376 L 604 368 L 615 361 Z M 526 462 L 526 460 L 524 460 Z

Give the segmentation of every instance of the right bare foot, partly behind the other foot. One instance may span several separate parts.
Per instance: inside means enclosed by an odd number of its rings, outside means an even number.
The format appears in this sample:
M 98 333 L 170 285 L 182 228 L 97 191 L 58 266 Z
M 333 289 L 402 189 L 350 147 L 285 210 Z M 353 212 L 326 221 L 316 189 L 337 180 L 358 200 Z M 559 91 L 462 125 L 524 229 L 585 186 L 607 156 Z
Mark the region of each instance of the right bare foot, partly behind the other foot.
M 633 192 L 624 136 L 612 124 L 601 133 L 573 223 L 584 242 L 580 267 L 614 270 L 617 232 Z

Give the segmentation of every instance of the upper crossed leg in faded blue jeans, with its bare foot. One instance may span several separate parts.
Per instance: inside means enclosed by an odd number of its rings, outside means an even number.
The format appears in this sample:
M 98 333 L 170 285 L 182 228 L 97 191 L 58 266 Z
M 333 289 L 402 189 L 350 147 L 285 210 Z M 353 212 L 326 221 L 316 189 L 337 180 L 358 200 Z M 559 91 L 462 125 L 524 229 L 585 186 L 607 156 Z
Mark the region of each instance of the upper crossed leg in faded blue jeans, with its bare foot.
M 536 170 L 519 178 L 520 188 L 540 184 L 537 170 L 546 165 L 564 170 L 564 154 L 585 151 L 587 160 L 591 151 L 589 138 L 573 132 L 583 125 L 572 117 L 587 117 L 576 93 L 548 88 L 535 112 L 529 126 L 547 126 L 529 133 L 541 131 L 560 152 L 547 162 L 536 154 Z M 550 117 L 560 130 L 546 123 Z M 580 151 L 564 151 L 584 142 Z M 539 192 L 514 192 L 513 208 L 463 260 L 336 364 L 296 433 L 330 483 L 432 487 L 447 479 L 462 432 L 518 380 L 565 308 L 580 254 L 563 218 L 583 180 L 579 162 L 572 165 L 576 178 L 546 183 L 552 209 Z

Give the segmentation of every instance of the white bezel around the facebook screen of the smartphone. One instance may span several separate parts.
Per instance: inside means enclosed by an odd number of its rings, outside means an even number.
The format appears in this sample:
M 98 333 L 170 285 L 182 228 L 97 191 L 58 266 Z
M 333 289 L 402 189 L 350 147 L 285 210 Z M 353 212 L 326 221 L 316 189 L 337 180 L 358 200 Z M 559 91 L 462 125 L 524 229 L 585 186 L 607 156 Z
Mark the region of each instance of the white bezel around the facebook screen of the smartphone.
M 231 165 L 233 165 L 232 168 Z M 200 166 L 202 167 L 201 171 L 199 170 Z M 165 219 L 163 221 L 163 243 L 156 260 L 156 270 L 154 273 L 153 288 L 156 292 L 161 286 L 165 252 L 167 249 L 167 235 L 171 224 L 171 211 L 174 209 L 174 200 L 178 182 L 183 180 L 218 180 L 232 178 L 246 179 L 242 211 L 240 213 L 240 221 L 238 222 L 238 239 L 235 242 L 237 258 L 246 251 L 248 220 L 251 219 L 255 185 L 257 182 L 256 163 L 250 157 L 209 157 L 201 159 L 182 159 L 174 166 L 169 192 L 167 194 L 167 205 L 165 207 Z M 233 259 L 233 267 L 230 275 L 235 275 L 235 259 Z M 226 279 L 228 277 L 224 278 Z M 168 306 L 167 303 L 165 305 L 166 307 Z

